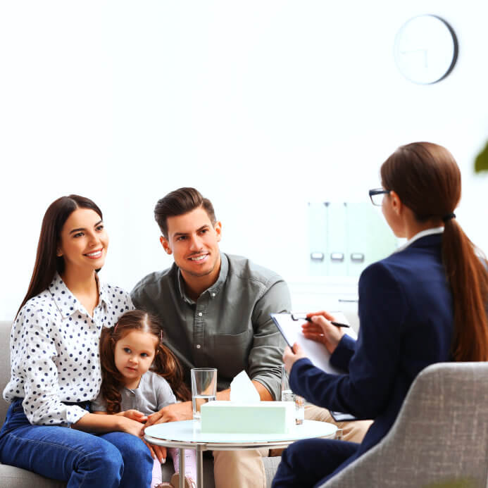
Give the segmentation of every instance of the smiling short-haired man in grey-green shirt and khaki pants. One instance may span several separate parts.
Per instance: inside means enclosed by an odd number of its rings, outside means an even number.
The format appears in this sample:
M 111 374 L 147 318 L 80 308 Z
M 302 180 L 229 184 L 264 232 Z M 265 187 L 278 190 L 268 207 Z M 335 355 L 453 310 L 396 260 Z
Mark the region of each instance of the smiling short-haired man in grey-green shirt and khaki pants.
M 290 310 L 287 284 L 246 258 L 220 253 L 222 225 L 196 189 L 166 195 L 154 215 L 163 249 L 175 263 L 144 277 L 131 296 L 137 308 L 161 321 L 187 384 L 191 368 L 217 368 L 217 399 L 228 400 L 232 378 L 246 370 L 261 400 L 279 400 L 284 341 L 270 313 Z M 325 412 L 318 414 L 320 420 L 330 420 L 327 411 L 316 409 Z M 190 418 L 191 402 L 175 403 L 151 415 L 148 425 Z M 365 428 L 356 425 L 348 438 L 361 441 Z M 214 451 L 216 488 L 265 487 L 261 455 Z

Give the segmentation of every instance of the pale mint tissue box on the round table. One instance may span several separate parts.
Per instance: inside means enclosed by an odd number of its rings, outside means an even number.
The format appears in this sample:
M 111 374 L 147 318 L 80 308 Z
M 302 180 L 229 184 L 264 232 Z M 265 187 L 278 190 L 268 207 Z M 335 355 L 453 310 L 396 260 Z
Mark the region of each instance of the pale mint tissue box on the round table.
M 209 401 L 201 406 L 201 432 L 287 434 L 294 425 L 291 401 Z

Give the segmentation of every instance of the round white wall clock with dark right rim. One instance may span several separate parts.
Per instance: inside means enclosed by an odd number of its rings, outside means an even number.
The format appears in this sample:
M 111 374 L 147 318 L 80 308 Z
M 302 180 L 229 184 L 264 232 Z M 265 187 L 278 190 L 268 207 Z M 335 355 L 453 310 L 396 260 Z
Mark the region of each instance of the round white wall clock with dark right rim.
M 419 15 L 407 20 L 396 34 L 394 56 L 403 76 L 428 85 L 451 73 L 458 57 L 458 42 L 442 18 Z

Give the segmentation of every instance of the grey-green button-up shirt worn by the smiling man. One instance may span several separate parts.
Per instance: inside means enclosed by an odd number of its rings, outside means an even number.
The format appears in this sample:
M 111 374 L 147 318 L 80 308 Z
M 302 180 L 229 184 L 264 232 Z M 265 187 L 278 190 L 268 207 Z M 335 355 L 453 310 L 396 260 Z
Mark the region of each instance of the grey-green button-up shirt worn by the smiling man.
M 173 264 L 136 284 L 134 306 L 158 318 L 188 385 L 191 368 L 217 368 L 219 391 L 246 370 L 280 399 L 284 339 L 270 313 L 290 311 L 287 284 L 249 259 L 220 257 L 218 280 L 196 301 L 185 293 L 180 268 Z

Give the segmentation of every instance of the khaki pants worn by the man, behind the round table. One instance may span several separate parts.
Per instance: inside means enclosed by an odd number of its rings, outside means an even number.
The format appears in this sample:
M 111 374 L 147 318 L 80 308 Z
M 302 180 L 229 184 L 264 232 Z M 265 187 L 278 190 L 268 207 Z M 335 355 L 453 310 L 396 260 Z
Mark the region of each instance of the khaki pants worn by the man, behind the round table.
M 329 411 L 315 405 L 305 406 L 307 420 L 320 420 L 342 429 L 344 441 L 362 442 L 372 424 L 371 420 L 336 422 Z M 242 451 L 213 451 L 215 488 L 266 488 L 263 456 L 280 456 L 282 449 L 246 449 Z

